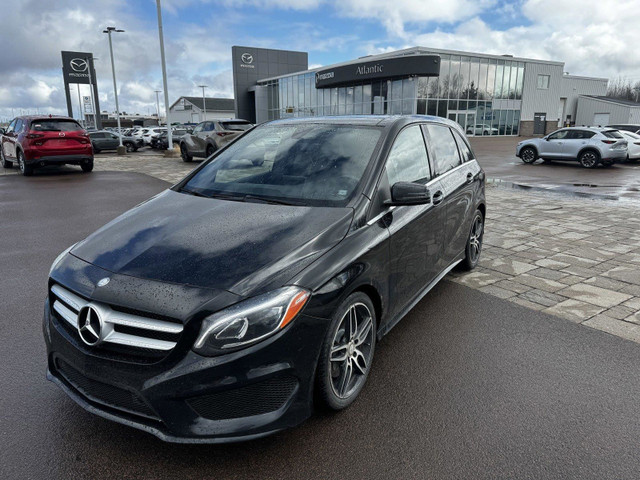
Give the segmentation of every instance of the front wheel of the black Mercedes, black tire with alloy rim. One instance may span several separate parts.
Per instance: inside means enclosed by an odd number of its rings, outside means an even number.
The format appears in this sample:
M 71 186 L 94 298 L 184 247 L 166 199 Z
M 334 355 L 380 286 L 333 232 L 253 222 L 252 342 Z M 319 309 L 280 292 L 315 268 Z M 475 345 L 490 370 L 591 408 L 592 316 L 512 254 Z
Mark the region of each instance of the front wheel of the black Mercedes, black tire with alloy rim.
M 355 331 L 351 312 L 356 315 Z M 376 325 L 373 302 L 363 292 L 352 293 L 336 308 L 316 372 L 316 393 L 323 407 L 336 411 L 347 408 L 362 391 L 375 353 Z

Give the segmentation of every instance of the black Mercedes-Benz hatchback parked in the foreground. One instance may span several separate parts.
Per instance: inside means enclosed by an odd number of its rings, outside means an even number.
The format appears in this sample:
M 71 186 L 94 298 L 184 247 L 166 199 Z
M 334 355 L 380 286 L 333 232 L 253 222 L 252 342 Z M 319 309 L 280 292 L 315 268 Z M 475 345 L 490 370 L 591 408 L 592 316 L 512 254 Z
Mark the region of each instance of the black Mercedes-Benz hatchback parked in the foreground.
M 174 442 L 255 438 L 362 390 L 376 342 L 478 263 L 484 173 L 427 116 L 251 129 L 60 254 L 47 376 Z

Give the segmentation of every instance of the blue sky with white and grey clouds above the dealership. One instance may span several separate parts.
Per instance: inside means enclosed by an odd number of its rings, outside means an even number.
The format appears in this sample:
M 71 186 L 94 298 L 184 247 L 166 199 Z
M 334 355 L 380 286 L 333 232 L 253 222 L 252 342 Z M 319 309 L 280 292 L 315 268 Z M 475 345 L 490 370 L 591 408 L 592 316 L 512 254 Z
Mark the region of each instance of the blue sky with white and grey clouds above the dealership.
M 113 37 L 121 110 L 154 113 L 162 88 L 155 5 L 15 0 L 0 16 L 0 120 L 66 112 L 61 50 L 93 52 L 101 109 L 115 110 L 101 33 L 109 25 L 126 30 Z M 163 19 L 170 102 L 199 95 L 203 83 L 208 96 L 231 97 L 232 45 L 308 51 L 312 66 L 420 45 L 640 80 L 637 0 L 163 0 Z

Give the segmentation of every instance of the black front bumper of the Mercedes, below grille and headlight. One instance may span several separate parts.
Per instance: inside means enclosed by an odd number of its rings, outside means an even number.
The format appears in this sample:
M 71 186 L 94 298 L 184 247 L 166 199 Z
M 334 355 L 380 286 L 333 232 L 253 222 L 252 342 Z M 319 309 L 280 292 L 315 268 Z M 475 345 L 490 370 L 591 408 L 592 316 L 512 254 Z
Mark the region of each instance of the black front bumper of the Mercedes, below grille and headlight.
M 210 358 L 194 353 L 185 338 L 186 347 L 179 342 L 157 363 L 139 364 L 93 354 L 47 301 L 47 378 L 87 411 L 165 441 L 247 440 L 309 417 L 327 326 L 325 319 L 301 315 L 257 345 Z

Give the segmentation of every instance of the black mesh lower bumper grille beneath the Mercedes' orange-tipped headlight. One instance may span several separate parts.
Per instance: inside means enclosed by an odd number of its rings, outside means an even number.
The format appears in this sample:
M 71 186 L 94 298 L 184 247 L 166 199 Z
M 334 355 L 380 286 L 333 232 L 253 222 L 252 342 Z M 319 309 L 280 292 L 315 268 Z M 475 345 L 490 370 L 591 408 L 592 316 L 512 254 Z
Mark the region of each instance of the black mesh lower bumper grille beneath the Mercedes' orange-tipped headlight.
M 209 420 L 250 417 L 281 408 L 297 385 L 294 377 L 277 377 L 226 392 L 194 397 L 187 403 L 199 416 Z

